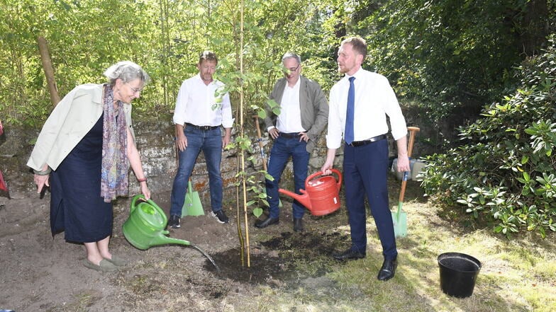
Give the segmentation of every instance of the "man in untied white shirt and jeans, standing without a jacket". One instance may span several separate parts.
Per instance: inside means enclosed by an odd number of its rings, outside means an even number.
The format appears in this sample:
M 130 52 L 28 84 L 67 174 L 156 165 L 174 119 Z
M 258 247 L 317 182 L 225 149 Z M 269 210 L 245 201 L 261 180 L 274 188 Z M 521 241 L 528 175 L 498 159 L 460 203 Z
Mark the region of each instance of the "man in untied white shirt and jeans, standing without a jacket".
M 199 56 L 199 74 L 182 83 L 174 110 L 176 144 L 179 149 L 179 166 L 174 184 L 168 226 L 179 228 L 189 176 L 201 150 L 208 170 L 211 190 L 212 215 L 222 224 L 228 216 L 222 209 L 223 185 L 220 173 L 222 148 L 230 143 L 232 134 L 232 108 L 228 93 L 222 93 L 224 84 L 213 79 L 218 57 L 211 51 Z M 225 130 L 224 137 L 220 129 Z

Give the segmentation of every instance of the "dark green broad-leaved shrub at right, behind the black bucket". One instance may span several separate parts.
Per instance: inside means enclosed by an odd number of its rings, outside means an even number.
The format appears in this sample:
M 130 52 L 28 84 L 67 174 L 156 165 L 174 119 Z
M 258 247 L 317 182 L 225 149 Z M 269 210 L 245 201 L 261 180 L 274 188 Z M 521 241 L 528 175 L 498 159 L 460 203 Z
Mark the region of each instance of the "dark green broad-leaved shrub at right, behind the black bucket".
M 460 127 L 462 145 L 428 156 L 422 186 L 496 233 L 556 231 L 556 35 L 516 70 L 520 88 Z

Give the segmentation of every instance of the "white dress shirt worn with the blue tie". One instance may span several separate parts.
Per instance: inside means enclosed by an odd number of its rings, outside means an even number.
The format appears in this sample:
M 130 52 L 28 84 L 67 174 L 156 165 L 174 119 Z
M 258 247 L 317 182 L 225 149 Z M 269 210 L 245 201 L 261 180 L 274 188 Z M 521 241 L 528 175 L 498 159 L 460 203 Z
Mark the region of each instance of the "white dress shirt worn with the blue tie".
M 381 134 L 387 134 L 386 116 L 390 117 L 392 137 L 395 140 L 407 134 L 406 120 L 401 113 L 396 94 L 388 79 L 380 74 L 359 69 L 353 76 L 355 86 L 355 116 L 353 121 L 355 141 L 363 141 Z M 347 92 L 350 76 L 335 83 L 330 89 L 330 109 L 328 112 L 328 149 L 338 149 L 342 143 L 347 110 Z

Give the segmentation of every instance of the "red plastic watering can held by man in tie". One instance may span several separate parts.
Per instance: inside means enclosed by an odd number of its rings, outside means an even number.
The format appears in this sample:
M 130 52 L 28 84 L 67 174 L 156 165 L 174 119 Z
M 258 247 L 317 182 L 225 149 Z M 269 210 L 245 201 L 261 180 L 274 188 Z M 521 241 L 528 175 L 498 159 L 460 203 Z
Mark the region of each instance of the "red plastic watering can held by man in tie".
M 322 216 L 330 214 L 340 209 L 340 187 L 342 186 L 342 173 L 336 169 L 331 169 L 333 173 L 338 175 L 336 180 L 333 175 L 322 175 L 322 171 L 318 171 L 309 175 L 305 180 L 305 190 L 299 189 L 301 195 L 288 190 L 278 189 L 284 195 L 294 198 L 301 202 L 313 216 Z M 316 178 L 316 179 L 313 179 Z

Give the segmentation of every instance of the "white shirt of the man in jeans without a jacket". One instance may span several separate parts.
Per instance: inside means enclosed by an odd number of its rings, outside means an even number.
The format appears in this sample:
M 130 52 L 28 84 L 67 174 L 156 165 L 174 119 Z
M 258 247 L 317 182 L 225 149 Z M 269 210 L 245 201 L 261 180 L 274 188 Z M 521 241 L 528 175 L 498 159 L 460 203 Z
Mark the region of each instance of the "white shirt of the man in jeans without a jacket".
M 197 74 L 182 83 L 177 93 L 174 124 L 186 122 L 196 126 L 219 126 L 231 128 L 233 125 L 230 96 L 225 93 L 216 97 L 216 91 L 224 84 L 214 80 L 208 86 Z

